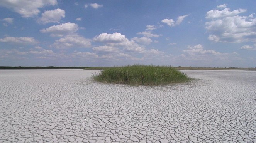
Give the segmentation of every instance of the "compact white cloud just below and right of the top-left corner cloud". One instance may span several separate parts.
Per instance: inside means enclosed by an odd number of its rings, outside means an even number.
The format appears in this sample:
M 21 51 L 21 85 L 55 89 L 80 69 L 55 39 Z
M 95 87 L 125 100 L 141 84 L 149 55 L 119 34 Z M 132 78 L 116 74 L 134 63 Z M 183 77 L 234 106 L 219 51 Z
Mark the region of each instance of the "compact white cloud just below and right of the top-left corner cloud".
M 37 20 L 37 22 L 39 23 L 50 23 L 50 22 L 57 22 L 59 23 L 59 20 L 61 20 L 61 18 L 65 17 L 65 10 L 62 9 L 56 9 L 56 10 L 48 10 L 45 11 L 44 13 L 42 13 L 42 17 Z

